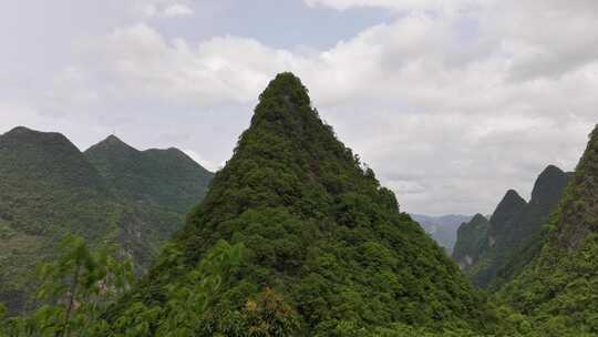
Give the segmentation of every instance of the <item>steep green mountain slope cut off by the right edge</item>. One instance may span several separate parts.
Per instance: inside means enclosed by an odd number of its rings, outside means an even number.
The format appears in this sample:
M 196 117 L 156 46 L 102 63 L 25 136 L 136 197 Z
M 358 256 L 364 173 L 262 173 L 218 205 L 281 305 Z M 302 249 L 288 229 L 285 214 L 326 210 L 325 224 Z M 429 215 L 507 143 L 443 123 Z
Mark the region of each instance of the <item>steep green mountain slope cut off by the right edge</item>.
M 499 295 L 533 317 L 540 335 L 596 336 L 598 126 L 545 232 L 532 262 Z

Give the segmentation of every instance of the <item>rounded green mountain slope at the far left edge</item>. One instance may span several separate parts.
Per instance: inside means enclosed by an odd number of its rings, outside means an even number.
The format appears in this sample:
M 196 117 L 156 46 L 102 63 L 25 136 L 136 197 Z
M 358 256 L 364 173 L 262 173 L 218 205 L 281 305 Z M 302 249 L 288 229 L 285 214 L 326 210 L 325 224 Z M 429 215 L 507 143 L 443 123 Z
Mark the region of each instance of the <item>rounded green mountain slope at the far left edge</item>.
M 63 135 L 25 127 L 1 135 L 0 302 L 22 309 L 33 266 L 60 237 L 116 242 L 123 216 L 97 171 Z

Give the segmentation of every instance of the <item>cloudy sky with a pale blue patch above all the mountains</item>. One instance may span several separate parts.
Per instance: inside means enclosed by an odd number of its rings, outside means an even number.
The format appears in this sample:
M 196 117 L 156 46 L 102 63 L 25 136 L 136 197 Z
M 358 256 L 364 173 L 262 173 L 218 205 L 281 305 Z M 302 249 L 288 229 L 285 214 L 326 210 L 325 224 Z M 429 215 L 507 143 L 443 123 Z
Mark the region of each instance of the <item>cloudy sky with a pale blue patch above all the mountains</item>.
M 292 71 L 401 208 L 492 213 L 598 123 L 595 0 L 3 0 L 0 133 L 217 170 Z

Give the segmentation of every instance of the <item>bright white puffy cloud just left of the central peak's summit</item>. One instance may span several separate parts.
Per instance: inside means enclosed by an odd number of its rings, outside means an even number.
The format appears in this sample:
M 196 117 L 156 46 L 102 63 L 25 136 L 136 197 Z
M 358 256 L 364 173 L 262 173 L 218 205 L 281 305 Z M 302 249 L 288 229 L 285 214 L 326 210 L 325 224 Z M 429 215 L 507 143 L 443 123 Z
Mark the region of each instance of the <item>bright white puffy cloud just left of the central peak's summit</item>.
M 86 69 L 111 76 L 117 94 L 193 101 L 198 105 L 250 102 L 277 70 L 291 68 L 295 55 L 252 39 L 220 37 L 190 45 L 167 41 L 140 23 L 117 29 L 87 45 Z

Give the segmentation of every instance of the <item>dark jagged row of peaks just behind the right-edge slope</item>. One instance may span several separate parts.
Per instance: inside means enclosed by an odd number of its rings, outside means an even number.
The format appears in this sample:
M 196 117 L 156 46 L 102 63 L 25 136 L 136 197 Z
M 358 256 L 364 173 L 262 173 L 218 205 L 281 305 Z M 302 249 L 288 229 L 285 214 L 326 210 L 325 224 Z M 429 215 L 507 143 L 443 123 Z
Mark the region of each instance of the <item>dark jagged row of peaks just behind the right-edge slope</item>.
M 486 226 L 464 224 L 460 228 L 460 247 L 455 247 L 453 259 L 475 285 L 499 285 L 529 262 L 568 178 L 567 173 L 549 165 L 536 180 L 529 203 L 509 190 Z

